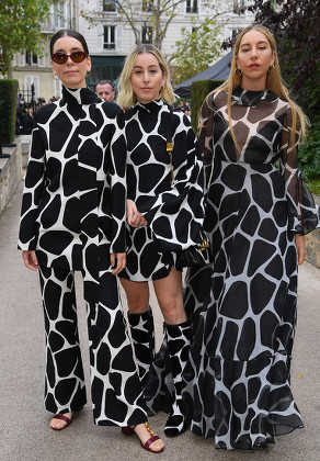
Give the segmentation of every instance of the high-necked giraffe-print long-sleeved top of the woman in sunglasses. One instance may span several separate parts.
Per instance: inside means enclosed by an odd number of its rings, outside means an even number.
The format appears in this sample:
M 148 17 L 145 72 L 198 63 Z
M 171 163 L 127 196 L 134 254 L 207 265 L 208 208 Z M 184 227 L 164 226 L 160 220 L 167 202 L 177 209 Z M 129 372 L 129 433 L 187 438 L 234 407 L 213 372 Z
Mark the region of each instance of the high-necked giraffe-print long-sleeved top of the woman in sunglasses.
M 37 250 L 43 267 L 84 269 L 88 295 L 110 252 L 126 248 L 121 112 L 88 88 L 64 88 L 60 101 L 34 114 L 19 248 Z

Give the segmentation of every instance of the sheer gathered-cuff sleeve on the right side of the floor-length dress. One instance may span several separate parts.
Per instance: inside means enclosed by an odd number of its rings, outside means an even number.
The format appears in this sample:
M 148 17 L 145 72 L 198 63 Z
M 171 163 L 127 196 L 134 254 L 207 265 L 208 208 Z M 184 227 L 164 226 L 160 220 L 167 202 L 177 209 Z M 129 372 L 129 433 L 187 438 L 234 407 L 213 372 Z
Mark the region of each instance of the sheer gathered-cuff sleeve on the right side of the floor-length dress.
M 295 143 L 290 145 L 292 124 L 292 110 L 288 109 L 282 133 L 281 166 L 288 202 L 289 231 L 305 235 L 320 226 L 320 212 L 297 166 L 301 131 L 297 123 Z

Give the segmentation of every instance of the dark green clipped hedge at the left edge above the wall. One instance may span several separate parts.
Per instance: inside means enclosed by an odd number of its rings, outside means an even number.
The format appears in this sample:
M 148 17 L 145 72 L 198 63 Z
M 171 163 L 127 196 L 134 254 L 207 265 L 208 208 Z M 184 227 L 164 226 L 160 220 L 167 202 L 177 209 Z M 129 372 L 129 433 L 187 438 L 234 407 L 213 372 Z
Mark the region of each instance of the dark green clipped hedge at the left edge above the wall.
M 18 80 L 0 80 L 0 130 L 2 144 L 12 143 L 15 134 Z

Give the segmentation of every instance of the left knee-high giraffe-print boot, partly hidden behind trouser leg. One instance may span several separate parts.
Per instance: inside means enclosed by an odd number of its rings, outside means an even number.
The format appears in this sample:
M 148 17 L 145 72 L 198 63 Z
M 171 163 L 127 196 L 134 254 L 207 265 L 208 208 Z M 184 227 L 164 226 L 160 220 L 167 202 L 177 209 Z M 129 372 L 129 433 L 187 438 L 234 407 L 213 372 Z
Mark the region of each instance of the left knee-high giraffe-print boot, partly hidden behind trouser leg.
M 128 321 L 144 389 L 148 380 L 150 366 L 155 359 L 155 325 L 151 307 L 141 314 L 128 313 Z

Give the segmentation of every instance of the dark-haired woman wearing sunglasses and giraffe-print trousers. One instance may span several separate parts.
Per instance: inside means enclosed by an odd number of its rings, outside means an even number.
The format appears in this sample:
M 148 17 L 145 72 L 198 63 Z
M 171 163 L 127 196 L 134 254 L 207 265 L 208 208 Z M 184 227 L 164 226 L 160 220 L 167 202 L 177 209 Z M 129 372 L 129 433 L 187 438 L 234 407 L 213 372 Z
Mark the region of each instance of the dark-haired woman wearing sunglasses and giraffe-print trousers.
M 163 442 L 146 423 L 115 277 L 126 263 L 126 149 L 115 123 L 122 111 L 87 88 L 91 59 L 81 34 L 57 32 L 50 54 L 62 99 L 35 113 L 19 241 L 26 268 L 39 273 L 45 406 L 55 414 L 50 427 L 67 427 L 87 402 L 75 293 L 79 270 L 88 310 L 94 423 L 122 426 L 127 435 L 136 431 L 145 449 L 159 452 Z

